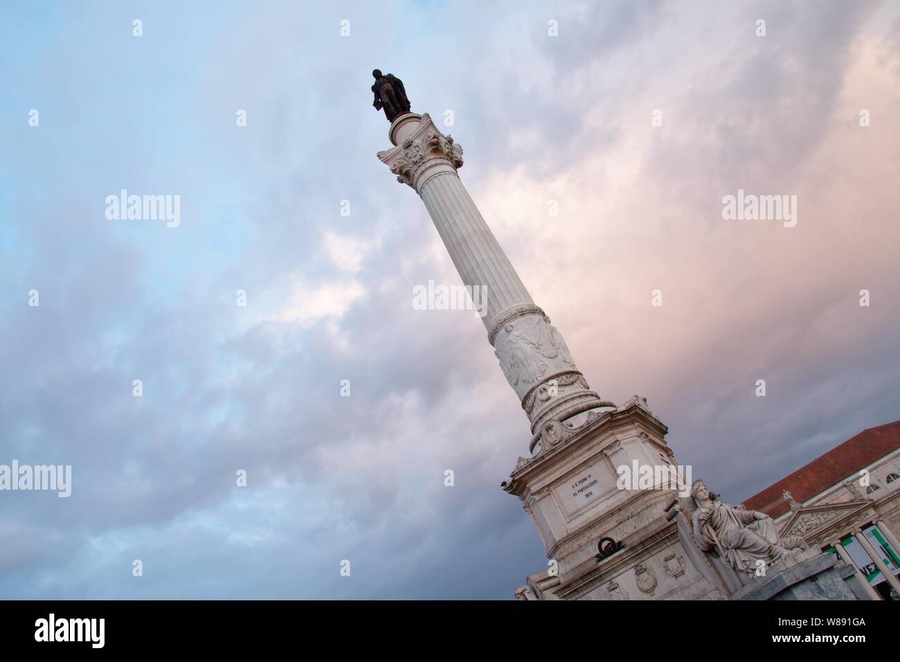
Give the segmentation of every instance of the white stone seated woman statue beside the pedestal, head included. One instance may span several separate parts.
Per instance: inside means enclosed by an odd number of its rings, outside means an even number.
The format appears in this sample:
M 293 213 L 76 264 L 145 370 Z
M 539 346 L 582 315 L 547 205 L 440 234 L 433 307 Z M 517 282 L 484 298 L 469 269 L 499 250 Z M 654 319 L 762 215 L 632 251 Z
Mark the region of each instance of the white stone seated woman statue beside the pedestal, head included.
M 758 560 L 769 566 L 793 551 L 806 549 L 800 536 L 780 538 L 775 521 L 764 512 L 740 510 L 710 498 L 702 480 L 694 481 L 690 495 L 697 504 L 691 521 L 698 547 L 716 550 L 739 572 L 754 574 Z

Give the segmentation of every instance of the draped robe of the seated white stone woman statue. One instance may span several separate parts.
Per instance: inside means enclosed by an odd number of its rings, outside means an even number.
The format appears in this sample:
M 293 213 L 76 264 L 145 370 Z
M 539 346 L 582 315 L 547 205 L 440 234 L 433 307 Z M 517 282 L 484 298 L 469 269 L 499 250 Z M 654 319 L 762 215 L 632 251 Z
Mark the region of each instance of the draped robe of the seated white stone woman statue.
M 707 551 L 715 547 L 706 527 L 699 521 L 698 509 L 693 515 L 694 538 L 700 549 Z M 770 517 L 757 520 L 753 511 L 744 511 L 734 508 L 727 503 L 713 502 L 713 512 L 708 521 L 716 532 L 716 538 L 725 549 L 725 560 L 735 570 L 743 570 L 752 573 L 757 568 L 757 560 L 763 560 L 768 566 L 779 560 L 789 549 L 804 546 L 802 540 L 796 537 L 779 539 L 779 532 L 775 528 L 775 521 Z

